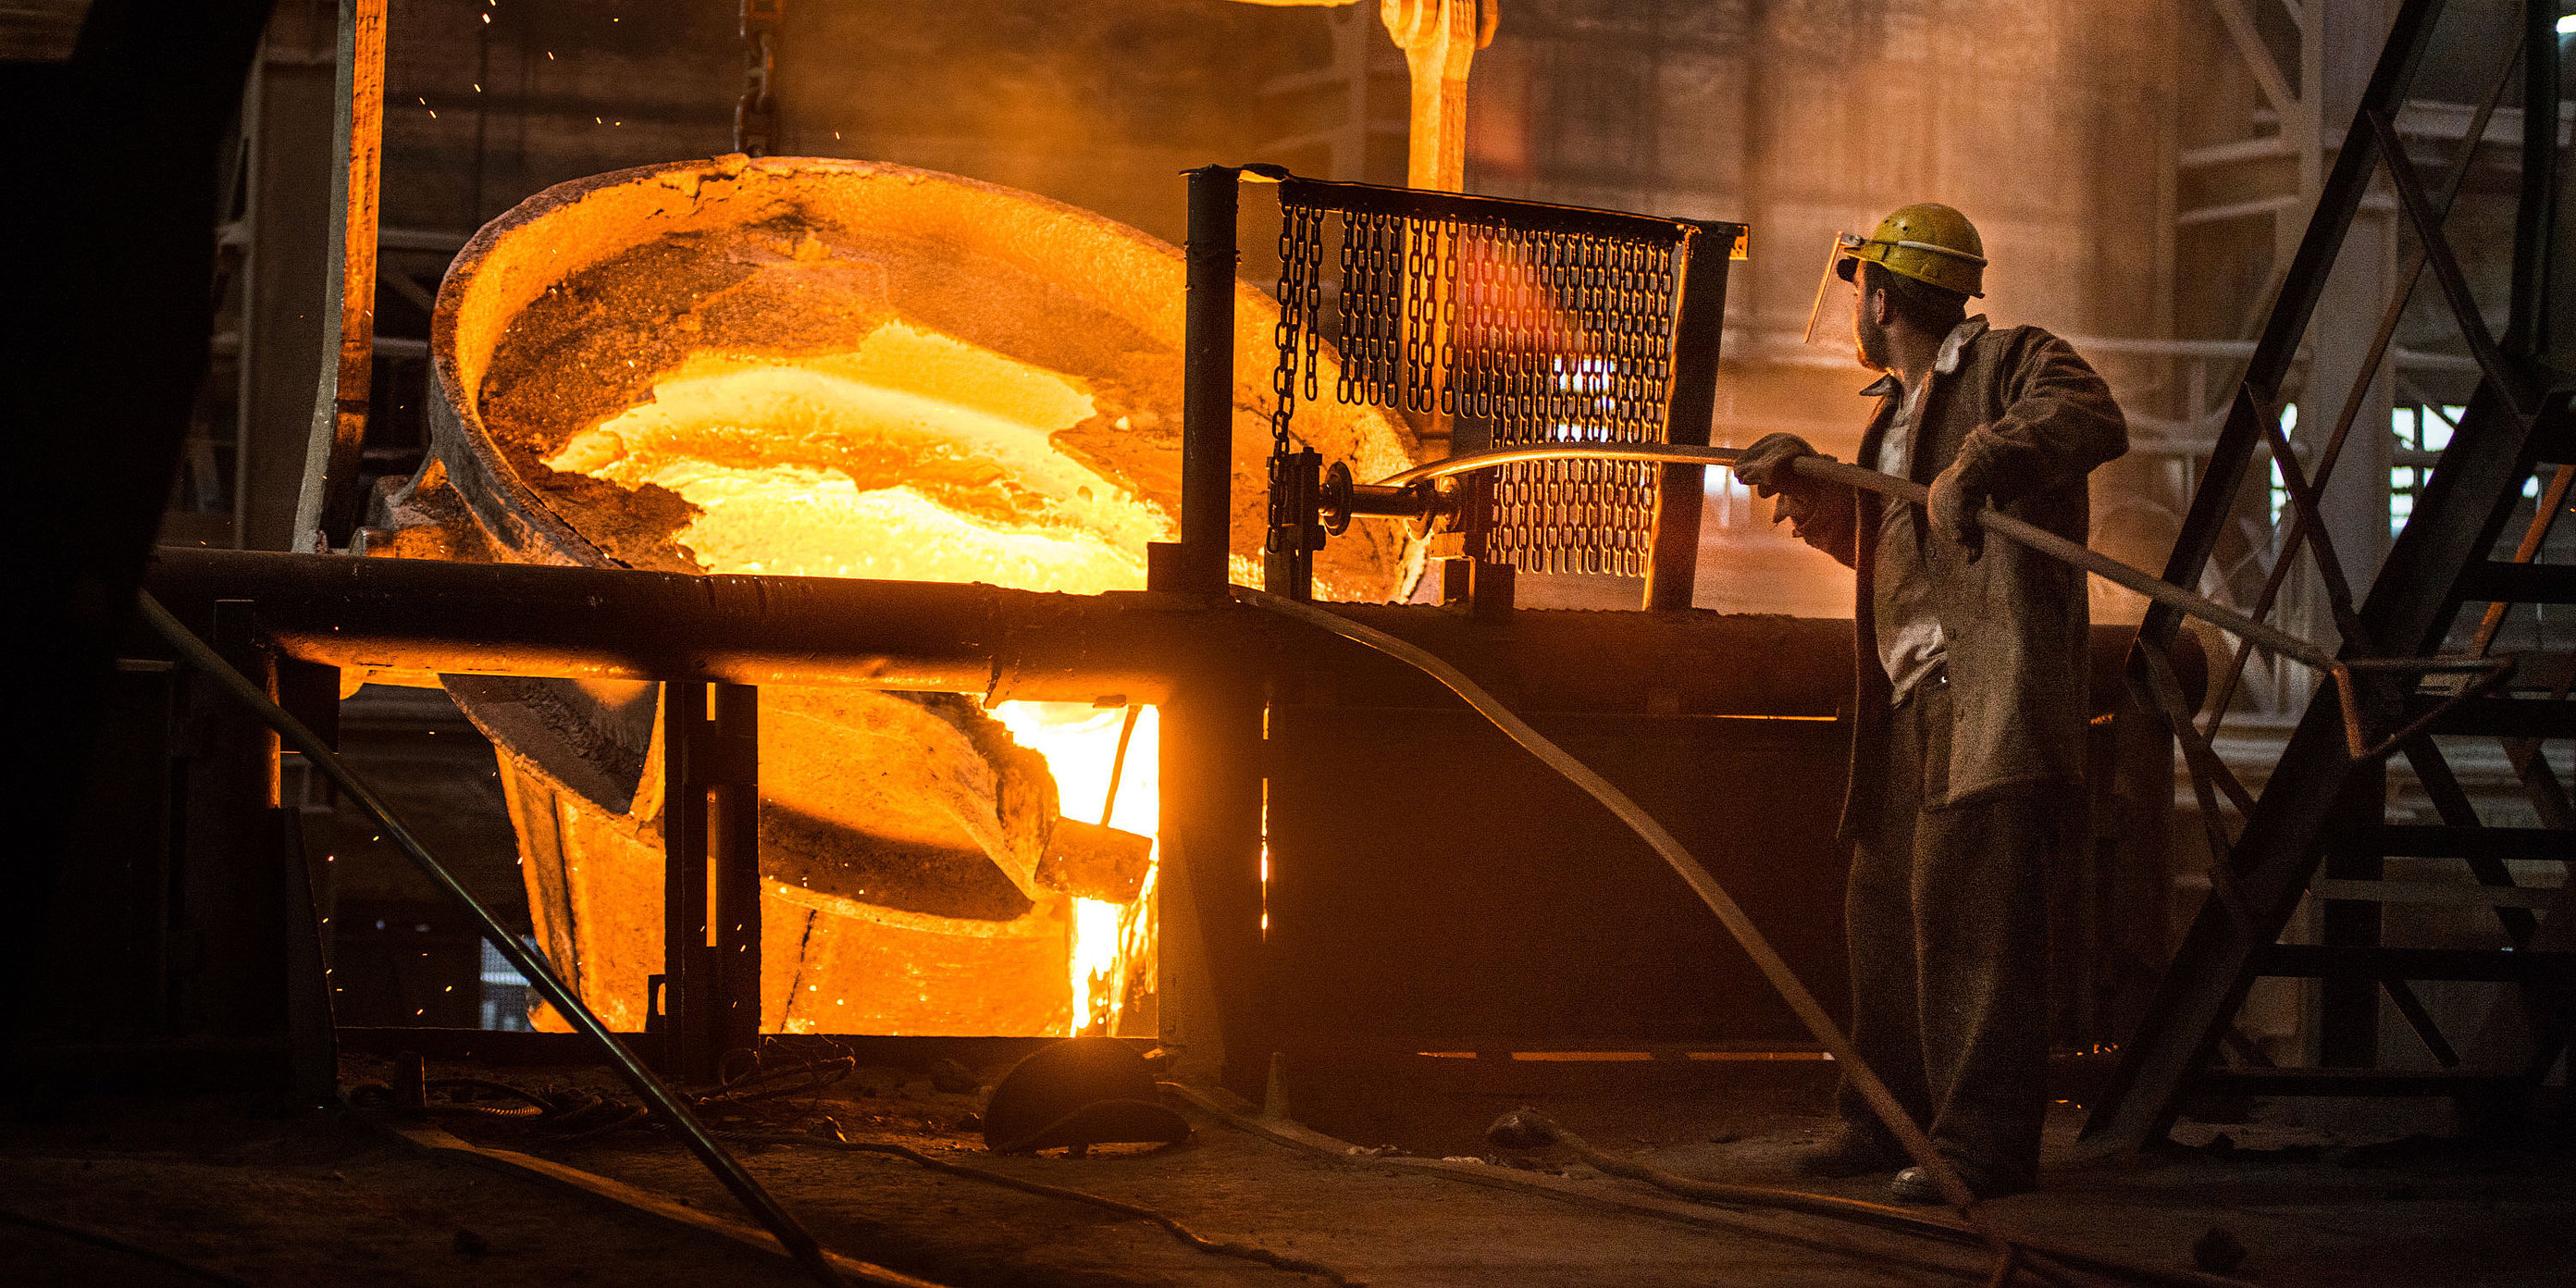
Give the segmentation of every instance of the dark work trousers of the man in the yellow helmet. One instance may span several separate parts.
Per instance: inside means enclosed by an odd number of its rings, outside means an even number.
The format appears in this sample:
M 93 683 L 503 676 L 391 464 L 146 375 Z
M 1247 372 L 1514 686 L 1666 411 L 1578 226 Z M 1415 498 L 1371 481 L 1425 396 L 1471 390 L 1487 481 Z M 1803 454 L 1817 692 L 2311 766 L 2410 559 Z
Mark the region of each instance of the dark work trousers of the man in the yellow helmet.
M 1852 1046 L 1973 1185 L 2038 1182 L 2048 1115 L 2048 860 L 2081 801 L 1924 809 L 1950 773 L 1950 688 L 1888 714 L 1886 796 L 1852 855 Z M 1860 1090 L 1839 1110 L 1893 1149 Z

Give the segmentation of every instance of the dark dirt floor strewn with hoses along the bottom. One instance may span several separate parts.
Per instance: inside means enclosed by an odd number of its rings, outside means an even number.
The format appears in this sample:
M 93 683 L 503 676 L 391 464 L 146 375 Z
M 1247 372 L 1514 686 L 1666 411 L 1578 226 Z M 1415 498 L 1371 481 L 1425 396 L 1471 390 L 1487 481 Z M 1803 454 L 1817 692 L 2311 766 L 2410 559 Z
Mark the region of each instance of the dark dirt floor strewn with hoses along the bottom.
M 358 1105 L 384 1061 L 350 1061 Z M 240 1100 L 18 1105 L 0 1123 L 0 1283 L 10 1285 L 585 1285 L 806 1283 L 775 1255 L 484 1151 L 649 1190 L 698 1213 L 739 1208 L 652 1126 L 618 1126 L 618 1090 L 587 1069 L 430 1066 L 433 1113 L 281 1115 Z M 438 1084 L 471 1074 L 549 1105 Z M 1953 1285 L 1986 1265 L 1832 1218 L 1718 1208 L 1602 1177 L 1564 1151 L 1515 1154 L 1484 1123 L 1535 1105 L 1595 1146 L 1664 1170 L 1790 1185 L 1783 1159 L 1824 1118 L 1824 1069 L 1461 1069 L 1288 1079 L 1288 1108 L 1352 1144 L 1244 1131 L 1193 1110 L 1177 1146 L 994 1157 L 984 1090 L 999 1069 L 853 1069 L 829 1087 L 708 1108 L 747 1167 L 837 1252 L 951 1285 Z M 778 1084 L 773 1084 L 775 1090 Z M 474 1095 L 474 1100 L 464 1100 Z M 603 1097 L 598 1108 L 564 1113 Z M 2257 1115 L 2182 1123 L 2143 1157 L 2076 1162 L 2069 1108 L 2045 1190 L 1991 1203 L 1999 1226 L 2136 1262 L 2190 1267 L 2195 1244 L 2264 1285 L 2558 1285 L 2576 1257 L 2566 1141 L 2470 1149 Z M 410 1131 L 412 1136 L 402 1136 Z M 1121 1211 L 850 1151 L 889 1141 L 992 1175 L 1144 1206 L 1185 1244 Z M 420 1141 L 430 1141 L 430 1146 Z M 456 1141 L 446 1149 L 440 1139 Z M 1303 1144 L 1301 1144 L 1303 1141 Z M 1883 1200 L 1883 1177 L 1821 1193 Z M 2218 1229 L 2223 1234 L 2213 1236 Z M 1273 1262 L 1306 1267 L 1283 1267 Z M 2210 1265 L 2210 1262 L 2205 1262 Z

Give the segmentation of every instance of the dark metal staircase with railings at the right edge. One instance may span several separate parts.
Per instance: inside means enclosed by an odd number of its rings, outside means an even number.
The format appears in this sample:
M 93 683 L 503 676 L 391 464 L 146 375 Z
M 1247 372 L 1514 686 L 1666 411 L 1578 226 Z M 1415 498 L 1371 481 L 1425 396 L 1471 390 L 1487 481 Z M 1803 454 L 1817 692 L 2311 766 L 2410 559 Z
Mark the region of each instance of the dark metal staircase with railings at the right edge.
M 2257 464 L 2257 448 L 2267 446 L 2280 464 L 2290 492 L 2290 533 L 2267 585 L 2254 605 L 2262 618 L 2272 611 L 2287 569 L 2306 551 L 2318 569 L 2326 603 L 2344 634 L 2339 667 L 2318 685 L 2316 698 L 2282 750 L 2280 765 L 2264 781 L 2259 796 L 2221 762 L 2213 734 L 2226 716 L 2228 698 L 2249 659 L 2251 644 L 2241 644 L 2233 665 L 2215 685 L 2208 729 L 2195 726 L 2164 662 L 2182 616 L 2169 605 L 2151 605 L 2138 631 L 2130 657 L 2130 683 L 2164 711 L 2182 744 L 2192 773 L 2208 829 L 2213 866 L 2210 899 L 2187 933 L 2156 1005 L 2141 1030 L 2123 1048 L 2123 1064 L 2094 1105 L 2084 1136 L 2102 1144 L 2136 1146 L 2161 1133 L 2174 1115 L 2177 1097 L 2195 1082 L 2208 1090 L 2257 1090 L 2264 1095 L 2393 1095 L 2416 1090 L 2465 1092 L 2481 1082 L 2463 1072 L 2463 1056 L 2434 1025 L 2432 1012 L 2411 989 L 2411 979 L 2512 979 L 2558 981 L 2566 953 L 2555 953 L 2555 938 L 2576 938 L 2576 922 L 2543 922 L 2527 899 L 2509 891 L 2509 855 L 2576 858 L 2576 837 L 2550 837 L 2548 829 L 2571 827 L 2566 793 L 2555 783 L 2548 760 L 2537 752 L 2540 737 L 2576 734 L 2576 703 L 2568 703 L 2566 675 L 2524 675 L 2524 688 L 2537 683 L 2545 698 L 2491 696 L 2506 688 L 2512 657 L 2491 662 L 2496 631 L 2514 600 L 2576 600 L 2576 587 L 2563 569 L 2535 564 L 2548 538 L 2550 520 L 2566 505 L 2568 479 L 2576 466 L 2566 464 L 2568 443 L 2568 389 L 2553 389 L 2537 361 L 2543 340 L 2543 309 L 2537 281 L 2548 273 L 2545 204 L 2550 170 L 2555 167 L 2555 36 L 2553 5 L 2530 3 L 2524 13 L 2524 41 L 2517 52 L 2527 67 L 2524 113 L 2548 129 L 2543 147 L 2527 139 L 2524 147 L 2524 216 L 2517 229 L 2514 265 L 2514 325 L 2496 340 L 2478 314 L 2468 291 L 2458 255 L 2452 252 L 2442 216 L 2460 191 L 2465 170 L 2483 139 L 2486 121 L 2509 82 L 2517 54 L 2506 54 L 2496 90 L 2478 108 L 2476 124 L 2460 144 L 2450 180 L 2439 198 L 2427 193 L 2414 162 L 2396 137 L 2396 111 L 2421 62 L 2439 0 L 2409 0 L 2391 26 L 2385 49 L 2370 75 L 2354 111 L 2344 149 L 2326 178 L 2316 214 L 2300 240 L 2280 296 L 2264 325 L 2262 343 L 2246 363 L 2236 389 L 2226 430 L 2210 456 L 2182 538 L 2166 564 L 2164 580 L 2172 585 L 2197 585 L 2208 567 L 2218 533 L 2226 526 L 2239 489 Z M 2535 70 L 2535 67 L 2545 67 Z M 2318 456 L 2313 477 L 2300 469 L 2280 428 L 2280 394 L 2290 361 L 2306 335 L 2326 273 L 2342 250 L 2344 234 L 2370 188 L 2372 175 L 2385 165 L 2398 196 L 2403 219 L 2414 227 L 2421 250 L 2398 276 L 2396 299 L 2388 301 L 2375 340 L 2367 348 L 2354 389 L 2342 404 L 2334 433 Z M 2535 214 L 2537 209 L 2537 214 Z M 2468 412 L 2427 482 L 2416 507 L 2398 533 L 2385 564 L 2370 585 L 2367 598 L 2354 605 L 2342 564 L 2316 510 L 2316 495 L 2331 477 L 2342 446 L 2365 404 L 2365 392 L 2378 374 L 2396 335 L 2398 317 L 2421 278 L 2432 270 L 2439 296 L 2458 325 L 2470 355 L 2478 363 L 2481 386 Z M 2519 502 L 2522 479 L 2532 471 L 2537 453 L 2561 461 L 2530 531 L 2512 562 L 2491 562 L 2501 526 Z M 2478 634 L 2465 654 L 2429 665 L 2432 654 L 2450 634 L 2463 600 L 2486 600 Z M 2447 683 L 2427 683 L 2427 672 L 2476 672 Z M 2401 677 L 2416 677 L 2401 683 Z M 2370 752 L 2360 752 L 2357 729 L 2396 726 Z M 2339 729 L 2342 726 L 2342 729 Z M 2517 775 L 2532 791 L 2535 809 L 2548 824 L 2537 837 L 2532 829 L 2481 829 L 2465 791 L 2458 786 L 2442 750 L 2432 734 L 2504 734 Z M 2342 734 L 2342 737 L 2339 737 Z M 2383 819 L 2385 781 L 2357 773 L 2380 765 L 2388 752 L 2403 752 L 2427 793 L 2445 819 L 2439 829 L 2393 829 Z M 2228 835 L 2221 817 L 2221 796 L 2236 806 L 2241 827 Z M 2354 824 L 2354 817 L 2367 822 Z M 2429 835 L 2416 835 L 2429 832 Z M 2473 835 L 2491 832 L 2491 835 Z M 2427 855 L 2432 850 L 2432 855 Z M 2463 858 L 2481 886 L 2506 886 L 2488 891 L 2496 896 L 2494 912 L 2504 935 L 2519 953 L 2483 951 L 2409 951 L 2378 943 L 2378 902 L 2367 891 L 2378 889 L 2385 855 Z M 2326 940 L 2324 945 L 2280 945 L 2277 938 L 2311 894 L 2318 866 L 2326 866 Z M 2360 894 L 2360 896 L 2354 896 Z M 2563 896 L 2561 896 L 2563 902 Z M 2571 914 L 2576 917 L 2576 914 Z M 2550 935 L 2548 930 L 2558 930 Z M 2465 953 L 2465 956 L 2458 956 Z M 2231 1038 L 2233 1015 L 2244 1002 L 2251 979 L 2311 976 L 2326 979 L 2329 1010 L 2329 1064 L 2336 1069 L 2205 1069 L 2210 1056 Z M 2416 1030 L 2450 1082 L 2357 1069 L 2375 1056 L 2378 994 L 2385 992 L 2398 1015 Z M 2352 1023 L 2336 1023 L 2339 1018 Z M 2360 1033 L 2334 1033 L 2336 1028 Z M 2488 1025 L 2494 1028 L 2494 1025 Z M 2563 1033 L 2540 1033 L 2530 1061 L 2545 1072 L 2555 1059 Z M 2519 1072 L 2530 1077 L 2532 1069 Z M 2486 1079 L 2496 1082 L 2496 1079 Z M 2512 1082 L 2512 1079 L 2504 1079 Z

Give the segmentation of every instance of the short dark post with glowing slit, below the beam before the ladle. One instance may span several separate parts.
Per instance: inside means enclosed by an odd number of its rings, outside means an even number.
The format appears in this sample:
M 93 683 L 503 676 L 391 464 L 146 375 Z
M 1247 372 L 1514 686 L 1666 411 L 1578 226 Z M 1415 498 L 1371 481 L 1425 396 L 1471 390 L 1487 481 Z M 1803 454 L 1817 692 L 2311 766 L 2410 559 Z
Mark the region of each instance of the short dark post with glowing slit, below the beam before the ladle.
M 760 701 L 662 685 L 662 1043 L 711 1082 L 760 1041 Z

